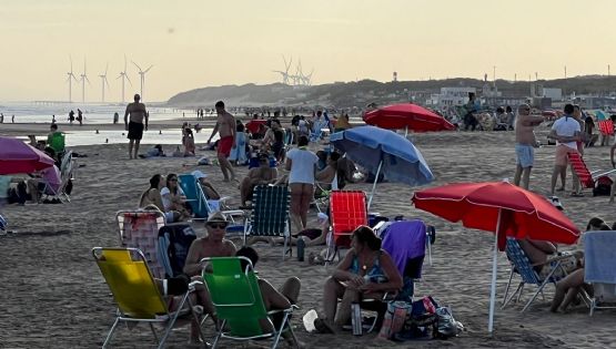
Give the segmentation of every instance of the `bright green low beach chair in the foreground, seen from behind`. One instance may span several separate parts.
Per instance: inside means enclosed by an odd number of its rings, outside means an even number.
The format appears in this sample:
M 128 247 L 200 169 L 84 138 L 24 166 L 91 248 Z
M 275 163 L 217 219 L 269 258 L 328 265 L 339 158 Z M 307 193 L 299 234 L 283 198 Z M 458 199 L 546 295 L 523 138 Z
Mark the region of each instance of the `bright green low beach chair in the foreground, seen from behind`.
M 245 270 L 242 270 L 241 260 L 248 265 Z M 216 315 L 222 320 L 212 348 L 216 348 L 222 338 L 240 341 L 272 338 L 271 348 L 276 348 L 283 331 L 290 331 L 295 345 L 297 343 L 290 324 L 295 306 L 281 310 L 265 309 L 259 280 L 249 258 L 204 258 L 201 263 L 209 264 L 202 275 Z M 275 314 L 282 315 L 277 328 L 272 321 Z M 266 322 L 270 330 L 264 330 L 262 322 Z

